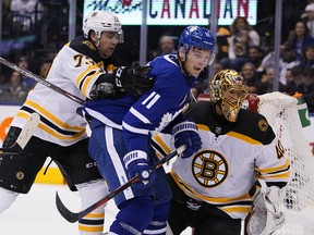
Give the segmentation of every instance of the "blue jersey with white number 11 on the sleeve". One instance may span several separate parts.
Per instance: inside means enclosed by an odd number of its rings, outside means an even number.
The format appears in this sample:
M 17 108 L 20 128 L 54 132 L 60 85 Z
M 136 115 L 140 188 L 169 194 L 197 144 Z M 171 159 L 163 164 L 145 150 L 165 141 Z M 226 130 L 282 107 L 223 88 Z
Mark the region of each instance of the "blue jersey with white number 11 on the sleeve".
M 128 94 L 114 100 L 88 101 L 84 107 L 84 111 L 92 116 L 92 129 L 98 124 L 123 129 L 129 151 L 147 152 L 152 133 L 164 129 L 176 116 L 176 121 L 180 121 L 182 114 L 179 114 L 195 82 L 195 77 L 186 76 L 181 71 L 177 55 L 157 57 L 147 65 L 152 66 L 149 76 L 156 82 L 140 99 Z

